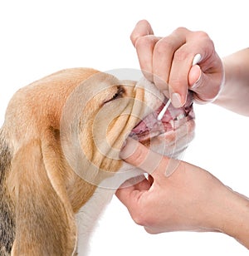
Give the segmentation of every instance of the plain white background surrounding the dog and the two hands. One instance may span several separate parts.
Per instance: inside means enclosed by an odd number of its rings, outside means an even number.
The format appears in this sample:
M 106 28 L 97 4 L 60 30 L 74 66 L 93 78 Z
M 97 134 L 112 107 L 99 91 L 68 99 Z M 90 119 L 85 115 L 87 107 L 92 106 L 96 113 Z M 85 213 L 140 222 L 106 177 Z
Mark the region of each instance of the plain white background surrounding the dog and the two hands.
M 146 18 L 158 36 L 176 27 L 206 31 L 221 57 L 249 45 L 248 1 L 2 1 L 0 122 L 18 88 L 62 68 L 139 68 L 129 34 Z M 249 101 L 249 99 L 248 99 Z M 217 106 L 195 106 L 197 130 L 184 160 L 249 195 L 249 120 Z M 223 234 L 150 235 L 113 199 L 91 244 L 99 255 L 247 255 Z

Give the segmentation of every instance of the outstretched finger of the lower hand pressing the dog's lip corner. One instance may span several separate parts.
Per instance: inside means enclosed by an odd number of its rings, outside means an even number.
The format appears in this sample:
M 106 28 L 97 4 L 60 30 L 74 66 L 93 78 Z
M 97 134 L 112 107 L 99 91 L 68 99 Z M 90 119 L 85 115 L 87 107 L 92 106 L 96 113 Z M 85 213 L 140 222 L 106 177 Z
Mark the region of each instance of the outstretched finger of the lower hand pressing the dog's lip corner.
M 120 151 L 120 158 L 152 176 L 154 171 L 164 172 L 166 176 L 172 175 L 179 163 L 179 160 L 173 160 L 149 150 L 139 141 L 131 138 L 126 140 L 125 147 Z

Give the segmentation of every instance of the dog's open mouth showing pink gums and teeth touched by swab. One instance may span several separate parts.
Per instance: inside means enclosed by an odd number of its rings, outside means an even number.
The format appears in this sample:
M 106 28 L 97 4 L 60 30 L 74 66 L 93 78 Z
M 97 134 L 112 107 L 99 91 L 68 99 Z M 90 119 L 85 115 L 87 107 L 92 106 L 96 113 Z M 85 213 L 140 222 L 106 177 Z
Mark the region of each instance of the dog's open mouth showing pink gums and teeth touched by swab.
M 167 101 L 168 100 L 166 100 L 165 103 L 167 103 Z M 159 121 L 158 116 L 164 108 L 165 103 L 148 116 L 145 116 L 144 120 L 140 121 L 139 124 L 131 130 L 129 136 L 143 143 L 156 136 L 166 134 L 168 131 L 178 130 L 180 126 L 194 119 L 193 94 L 188 94 L 186 104 L 181 108 L 174 108 L 173 105 L 170 104 L 163 118 Z

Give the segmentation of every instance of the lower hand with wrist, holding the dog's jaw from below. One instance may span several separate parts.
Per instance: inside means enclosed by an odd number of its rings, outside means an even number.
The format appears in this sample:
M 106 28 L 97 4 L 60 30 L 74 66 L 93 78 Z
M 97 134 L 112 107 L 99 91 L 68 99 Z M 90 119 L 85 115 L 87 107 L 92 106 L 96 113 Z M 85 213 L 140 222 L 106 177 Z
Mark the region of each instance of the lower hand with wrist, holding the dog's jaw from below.
M 168 166 L 177 160 L 154 153 L 135 140 L 128 140 L 120 157 L 149 173 L 149 179 L 138 184 L 128 180 L 116 192 L 147 232 L 217 231 L 249 247 L 248 199 L 244 196 L 206 170 L 183 161 L 173 163 L 177 168 L 167 177 Z

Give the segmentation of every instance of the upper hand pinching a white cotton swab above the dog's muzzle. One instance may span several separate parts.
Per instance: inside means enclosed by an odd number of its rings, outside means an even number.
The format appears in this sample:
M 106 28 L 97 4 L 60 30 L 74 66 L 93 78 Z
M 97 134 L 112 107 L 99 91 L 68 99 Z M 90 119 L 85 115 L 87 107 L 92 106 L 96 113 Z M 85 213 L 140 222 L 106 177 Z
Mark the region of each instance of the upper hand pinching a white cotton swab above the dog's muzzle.
M 173 106 L 184 105 L 188 89 L 195 92 L 199 102 L 216 98 L 224 71 L 207 33 L 179 27 L 168 37 L 155 37 L 149 22 L 142 20 L 130 38 L 144 76 L 171 98 Z M 197 54 L 201 61 L 192 66 Z

